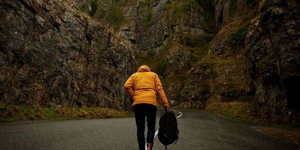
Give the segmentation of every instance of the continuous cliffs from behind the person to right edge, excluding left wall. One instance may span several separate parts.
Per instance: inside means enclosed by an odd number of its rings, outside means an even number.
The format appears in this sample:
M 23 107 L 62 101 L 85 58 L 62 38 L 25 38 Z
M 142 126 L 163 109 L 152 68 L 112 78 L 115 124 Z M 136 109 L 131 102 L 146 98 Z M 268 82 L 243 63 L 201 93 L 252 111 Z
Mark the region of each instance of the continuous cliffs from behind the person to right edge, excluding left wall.
M 256 101 L 262 118 L 299 120 L 296 0 L 91 1 L 89 14 L 160 75 L 171 104 Z

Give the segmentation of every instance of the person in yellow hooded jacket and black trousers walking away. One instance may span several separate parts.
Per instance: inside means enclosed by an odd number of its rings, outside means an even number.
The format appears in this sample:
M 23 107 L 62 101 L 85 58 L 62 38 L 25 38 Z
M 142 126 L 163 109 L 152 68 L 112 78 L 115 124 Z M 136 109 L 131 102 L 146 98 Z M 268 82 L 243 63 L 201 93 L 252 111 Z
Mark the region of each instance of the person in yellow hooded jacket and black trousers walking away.
M 137 72 L 128 77 L 124 88 L 130 96 L 134 110 L 138 147 L 139 149 L 145 148 L 144 130 L 146 117 L 148 127 L 146 146 L 147 149 L 152 149 L 157 109 L 156 93 L 164 110 L 168 109 L 168 102 L 158 75 L 151 72 L 147 65 L 141 65 Z

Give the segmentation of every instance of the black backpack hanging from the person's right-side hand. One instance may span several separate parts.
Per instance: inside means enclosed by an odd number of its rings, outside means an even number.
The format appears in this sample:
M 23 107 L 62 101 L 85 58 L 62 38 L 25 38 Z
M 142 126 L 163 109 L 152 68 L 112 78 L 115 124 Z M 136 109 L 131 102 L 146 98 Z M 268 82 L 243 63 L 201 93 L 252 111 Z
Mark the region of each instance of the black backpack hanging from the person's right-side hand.
M 171 110 L 165 111 L 159 119 L 158 139 L 164 144 L 165 149 L 168 144 L 177 142 L 179 131 L 175 113 Z M 175 142 L 175 144 L 176 144 Z

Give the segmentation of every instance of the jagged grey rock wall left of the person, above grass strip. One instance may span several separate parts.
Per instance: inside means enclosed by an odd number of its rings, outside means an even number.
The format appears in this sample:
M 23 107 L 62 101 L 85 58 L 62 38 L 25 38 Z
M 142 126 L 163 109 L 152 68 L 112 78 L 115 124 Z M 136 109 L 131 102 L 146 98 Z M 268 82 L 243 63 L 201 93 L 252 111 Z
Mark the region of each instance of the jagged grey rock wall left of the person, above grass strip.
M 0 1 L 0 104 L 129 109 L 127 43 L 67 0 Z

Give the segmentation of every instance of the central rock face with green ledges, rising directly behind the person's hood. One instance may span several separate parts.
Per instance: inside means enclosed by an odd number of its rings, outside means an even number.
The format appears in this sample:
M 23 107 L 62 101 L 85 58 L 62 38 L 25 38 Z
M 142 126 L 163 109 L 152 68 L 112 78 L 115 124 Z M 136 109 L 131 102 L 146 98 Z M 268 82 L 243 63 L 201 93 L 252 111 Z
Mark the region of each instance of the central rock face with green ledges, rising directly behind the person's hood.
M 207 54 L 216 33 L 212 1 L 97 1 L 93 18 L 128 42 L 137 63 L 158 73 L 169 101 L 179 104 L 188 70 Z M 86 0 L 81 0 L 78 7 L 85 4 Z

